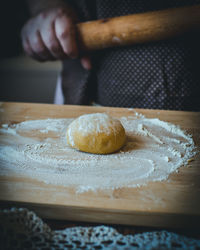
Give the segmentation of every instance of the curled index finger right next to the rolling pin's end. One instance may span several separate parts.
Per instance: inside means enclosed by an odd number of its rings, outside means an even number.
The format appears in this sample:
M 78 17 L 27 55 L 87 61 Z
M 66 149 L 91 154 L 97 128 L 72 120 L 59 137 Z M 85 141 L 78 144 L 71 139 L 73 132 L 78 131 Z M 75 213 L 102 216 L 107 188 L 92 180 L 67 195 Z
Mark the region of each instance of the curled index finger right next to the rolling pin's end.
M 64 53 L 71 58 L 78 57 L 75 28 L 70 18 L 65 15 L 56 18 L 55 34 Z

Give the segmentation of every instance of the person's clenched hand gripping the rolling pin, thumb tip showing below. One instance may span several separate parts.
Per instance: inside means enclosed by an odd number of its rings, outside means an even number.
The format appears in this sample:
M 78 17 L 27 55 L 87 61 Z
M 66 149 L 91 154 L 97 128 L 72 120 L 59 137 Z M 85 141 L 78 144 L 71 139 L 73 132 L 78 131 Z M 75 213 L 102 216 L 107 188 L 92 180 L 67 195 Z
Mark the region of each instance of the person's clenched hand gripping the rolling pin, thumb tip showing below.
M 79 56 L 76 41 L 76 14 L 69 8 L 52 8 L 31 18 L 21 32 L 25 52 L 38 61 L 63 60 Z M 80 58 L 85 69 L 89 57 Z

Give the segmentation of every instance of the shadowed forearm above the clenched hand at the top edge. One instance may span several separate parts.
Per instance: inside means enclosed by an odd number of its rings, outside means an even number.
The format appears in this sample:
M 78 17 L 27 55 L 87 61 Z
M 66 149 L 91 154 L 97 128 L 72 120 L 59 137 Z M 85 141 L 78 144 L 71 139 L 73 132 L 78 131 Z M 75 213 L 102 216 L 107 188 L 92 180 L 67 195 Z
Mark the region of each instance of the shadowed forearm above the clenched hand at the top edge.
M 56 7 L 67 7 L 64 0 L 26 0 L 31 16 L 36 16 L 40 12 Z

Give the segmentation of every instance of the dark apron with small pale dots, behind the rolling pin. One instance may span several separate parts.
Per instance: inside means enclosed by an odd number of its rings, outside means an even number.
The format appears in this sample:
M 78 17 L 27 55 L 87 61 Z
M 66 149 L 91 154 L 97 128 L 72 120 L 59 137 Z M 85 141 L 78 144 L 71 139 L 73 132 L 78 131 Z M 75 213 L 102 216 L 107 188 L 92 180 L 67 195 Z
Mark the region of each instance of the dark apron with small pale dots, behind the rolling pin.
M 77 3 L 76 8 L 83 21 L 200 1 L 82 0 Z M 98 51 L 93 55 L 93 70 L 89 73 L 79 69 L 81 77 L 79 80 L 73 78 L 70 84 L 64 62 L 65 101 L 73 104 L 95 101 L 104 106 L 118 107 L 200 110 L 199 44 L 199 33 L 193 33 L 166 41 Z M 68 65 L 71 72 L 69 69 Z M 75 71 L 77 76 L 77 69 Z

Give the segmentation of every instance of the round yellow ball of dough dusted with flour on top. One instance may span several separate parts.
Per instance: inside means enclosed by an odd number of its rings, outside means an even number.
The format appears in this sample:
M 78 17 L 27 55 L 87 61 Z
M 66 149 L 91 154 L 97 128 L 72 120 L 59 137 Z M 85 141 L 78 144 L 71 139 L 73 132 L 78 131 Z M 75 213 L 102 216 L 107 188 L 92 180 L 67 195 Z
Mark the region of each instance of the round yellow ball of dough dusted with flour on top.
M 67 142 L 72 148 L 93 154 L 119 150 L 126 135 L 121 122 L 104 113 L 82 115 L 67 128 Z

